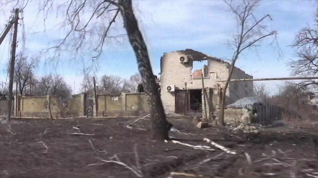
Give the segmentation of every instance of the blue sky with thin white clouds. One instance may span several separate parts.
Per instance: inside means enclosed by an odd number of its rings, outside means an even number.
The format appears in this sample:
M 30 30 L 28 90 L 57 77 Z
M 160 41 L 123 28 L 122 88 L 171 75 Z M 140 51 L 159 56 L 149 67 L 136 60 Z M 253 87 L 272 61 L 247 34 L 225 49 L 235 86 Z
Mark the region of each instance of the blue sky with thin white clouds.
M 42 49 L 51 47 L 55 44 L 54 41 L 60 39 L 66 32 L 66 29 L 60 29 L 56 25 L 63 17 L 54 14 L 46 20 L 46 31 L 41 32 L 44 30 L 43 14 L 37 16 L 37 3 L 38 1 L 29 3 L 23 13 L 25 53 L 28 56 L 38 55 Z M 232 50 L 225 43 L 236 32 L 236 21 L 223 1 L 139 0 L 134 1 L 134 7 L 147 41 L 155 74 L 160 72 L 160 57 L 164 52 L 192 48 L 221 59 L 231 58 Z M 3 10 L 0 12 L 1 31 L 10 16 L 11 8 L 12 6 L 1 7 Z M 313 24 L 316 9 L 317 1 L 261 1 L 255 15 L 257 17 L 271 15 L 273 21 L 266 21 L 266 25 L 268 29 L 277 30 L 277 41 L 283 56 L 278 59 L 277 50 L 269 45 L 270 41 L 264 41 L 257 51 L 255 49 L 244 51 L 236 66 L 253 75 L 254 78 L 289 77 L 290 71 L 286 67 L 286 62 L 294 55 L 293 48 L 289 45 L 298 30 Z M 22 26 L 19 26 L 18 41 L 22 42 L 21 29 Z M 119 33 L 124 32 L 120 20 L 116 22 L 114 30 Z M 18 46 L 18 51 L 21 50 L 21 46 Z M 0 61 L 0 81 L 6 78 L 4 70 L 8 62 L 7 47 L 8 43 L 0 46 L 0 59 L 3 55 Z M 126 37 L 105 44 L 103 49 L 95 71 L 98 76 L 107 73 L 128 78 L 137 72 L 135 55 Z M 89 50 L 83 51 L 84 54 L 89 52 Z M 36 69 L 36 75 L 59 73 L 72 88 L 75 81 L 75 93 L 79 92 L 83 78 L 81 75 L 83 64 L 80 60 L 70 61 L 72 57 L 71 53 L 63 52 L 58 66 L 55 67 L 43 56 Z M 282 84 L 281 81 L 264 83 L 272 94 L 277 93 L 277 86 Z

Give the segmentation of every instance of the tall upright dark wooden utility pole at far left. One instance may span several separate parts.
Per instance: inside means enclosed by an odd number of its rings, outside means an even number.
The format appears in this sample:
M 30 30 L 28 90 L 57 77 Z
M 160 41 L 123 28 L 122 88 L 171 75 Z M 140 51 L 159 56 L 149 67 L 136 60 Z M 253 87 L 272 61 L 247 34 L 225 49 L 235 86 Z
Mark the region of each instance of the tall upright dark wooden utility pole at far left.
M 11 118 L 11 106 L 12 106 L 12 89 L 13 89 L 13 75 L 14 75 L 14 63 L 16 60 L 16 47 L 17 47 L 17 30 L 18 30 L 18 20 L 19 20 L 19 9 L 16 9 L 15 20 L 14 20 L 14 31 L 12 39 L 12 51 L 11 51 L 11 62 L 10 62 L 10 80 L 9 80 L 9 101 L 7 110 L 7 122 Z

